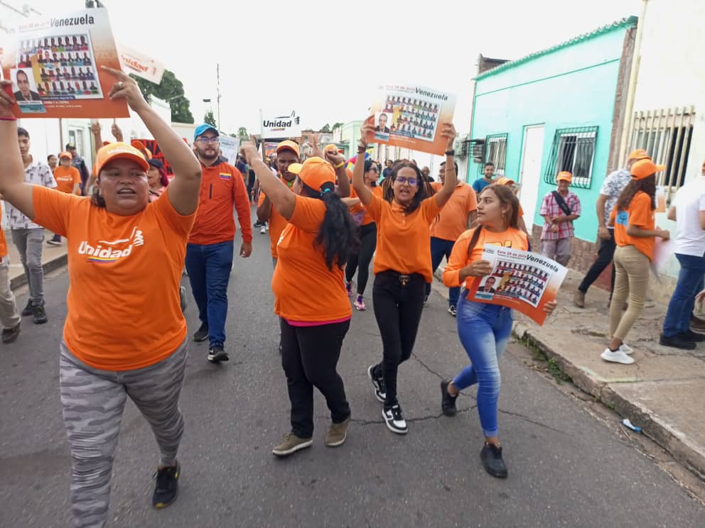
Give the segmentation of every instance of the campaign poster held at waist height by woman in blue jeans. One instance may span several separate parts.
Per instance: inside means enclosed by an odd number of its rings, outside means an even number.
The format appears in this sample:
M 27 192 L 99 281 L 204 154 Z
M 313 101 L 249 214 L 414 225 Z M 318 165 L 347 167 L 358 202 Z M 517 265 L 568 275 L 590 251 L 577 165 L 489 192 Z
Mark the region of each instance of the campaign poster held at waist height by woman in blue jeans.
M 544 324 L 544 306 L 556 300 L 568 269 L 550 258 L 486 244 L 483 260 L 492 265 L 490 275 L 470 287 L 468 299 L 517 309 Z

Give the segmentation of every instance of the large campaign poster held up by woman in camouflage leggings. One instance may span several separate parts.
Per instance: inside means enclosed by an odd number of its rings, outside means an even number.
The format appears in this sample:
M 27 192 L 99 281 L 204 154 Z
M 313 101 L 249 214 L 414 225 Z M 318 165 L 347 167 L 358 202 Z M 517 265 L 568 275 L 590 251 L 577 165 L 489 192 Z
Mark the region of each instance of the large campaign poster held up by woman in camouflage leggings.
M 100 68 L 121 69 L 106 9 L 21 21 L 5 35 L 0 61 L 16 117 L 129 117 L 127 101 L 107 99 L 116 79 Z

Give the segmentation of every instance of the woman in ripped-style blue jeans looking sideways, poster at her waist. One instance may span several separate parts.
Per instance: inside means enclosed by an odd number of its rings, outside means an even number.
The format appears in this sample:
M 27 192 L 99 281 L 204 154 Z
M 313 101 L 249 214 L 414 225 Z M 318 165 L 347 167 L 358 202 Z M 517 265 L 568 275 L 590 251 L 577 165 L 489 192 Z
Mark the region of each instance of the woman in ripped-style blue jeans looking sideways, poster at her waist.
M 470 365 L 453 380 L 441 381 L 441 409 L 455 416 L 456 398 L 461 390 L 478 384 L 478 412 L 485 434 L 480 459 L 494 477 L 506 478 L 507 467 L 497 438 L 497 399 L 500 395 L 500 367 L 497 360 L 512 334 L 512 310 L 498 304 L 468 299 L 468 290 L 481 277 L 489 275 L 492 265 L 482 260 L 486 244 L 527 251 L 529 241 L 519 229 L 519 201 L 505 185 L 490 185 L 478 198 L 478 227 L 465 231 L 453 246 L 451 258 L 443 271 L 443 284 L 462 286 L 458 299 L 458 336 L 468 353 Z M 555 302 L 544 308 L 553 312 Z

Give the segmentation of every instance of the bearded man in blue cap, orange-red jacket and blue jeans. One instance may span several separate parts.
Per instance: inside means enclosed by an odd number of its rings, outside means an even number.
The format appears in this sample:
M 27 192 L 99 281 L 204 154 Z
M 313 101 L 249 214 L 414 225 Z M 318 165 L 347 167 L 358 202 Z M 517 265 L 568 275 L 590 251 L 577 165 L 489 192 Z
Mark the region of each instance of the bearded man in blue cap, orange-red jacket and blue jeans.
M 232 269 L 235 219 L 242 230 L 240 256 L 252 253 L 252 225 L 249 199 L 242 174 L 225 163 L 220 152 L 216 128 L 203 124 L 195 129 L 193 151 L 203 170 L 198 213 L 186 246 L 186 270 L 191 291 L 198 304 L 200 328 L 194 341 L 209 340 L 208 361 L 220 363 L 230 359 L 225 352 L 225 317 L 227 316 L 227 283 Z

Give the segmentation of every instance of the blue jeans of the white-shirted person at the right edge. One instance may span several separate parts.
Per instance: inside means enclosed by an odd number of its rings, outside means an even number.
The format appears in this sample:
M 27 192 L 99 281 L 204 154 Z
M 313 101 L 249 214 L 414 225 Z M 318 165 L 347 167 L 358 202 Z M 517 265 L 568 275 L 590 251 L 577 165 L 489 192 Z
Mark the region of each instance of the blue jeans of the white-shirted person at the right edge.
M 668 303 L 668 312 L 663 321 L 664 337 L 673 337 L 690 329 L 690 315 L 695 307 L 695 296 L 703 289 L 705 257 L 676 253 L 681 265 L 678 283 Z

